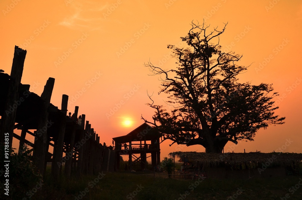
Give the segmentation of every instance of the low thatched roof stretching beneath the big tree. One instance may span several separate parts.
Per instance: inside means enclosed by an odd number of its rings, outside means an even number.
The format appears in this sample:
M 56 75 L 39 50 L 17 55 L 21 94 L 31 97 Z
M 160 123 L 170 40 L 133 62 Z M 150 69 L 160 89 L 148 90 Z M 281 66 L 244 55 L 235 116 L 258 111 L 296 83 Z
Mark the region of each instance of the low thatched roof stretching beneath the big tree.
M 302 161 L 302 153 L 204 153 L 204 152 L 173 152 L 169 153 L 170 157 L 175 155 L 184 160 L 191 160 L 193 163 L 199 162 L 205 166 L 217 165 L 220 163 L 242 164 L 242 163 L 276 163 L 281 165 L 291 164 L 293 161 Z

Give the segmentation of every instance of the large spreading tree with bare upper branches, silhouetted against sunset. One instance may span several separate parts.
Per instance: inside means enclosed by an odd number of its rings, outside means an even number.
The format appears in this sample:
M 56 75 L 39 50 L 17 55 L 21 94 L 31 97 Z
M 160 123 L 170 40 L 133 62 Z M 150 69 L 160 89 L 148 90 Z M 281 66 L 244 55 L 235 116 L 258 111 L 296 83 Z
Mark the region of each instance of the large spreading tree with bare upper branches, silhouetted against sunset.
M 221 153 L 228 141 L 253 140 L 260 128 L 283 124 L 284 117 L 275 115 L 278 109 L 271 84 L 240 83 L 236 78 L 247 67 L 236 64 L 242 55 L 221 51 L 219 36 L 225 31 L 191 23 L 188 35 L 181 37 L 186 47 L 168 45 L 177 60 L 176 69 L 164 70 L 148 62 L 152 75 L 162 77 L 161 92 L 169 94 L 168 112 L 162 105 L 156 109 L 153 124 L 162 139 L 172 144 L 202 145 L 206 152 Z M 172 145 L 170 144 L 170 146 Z

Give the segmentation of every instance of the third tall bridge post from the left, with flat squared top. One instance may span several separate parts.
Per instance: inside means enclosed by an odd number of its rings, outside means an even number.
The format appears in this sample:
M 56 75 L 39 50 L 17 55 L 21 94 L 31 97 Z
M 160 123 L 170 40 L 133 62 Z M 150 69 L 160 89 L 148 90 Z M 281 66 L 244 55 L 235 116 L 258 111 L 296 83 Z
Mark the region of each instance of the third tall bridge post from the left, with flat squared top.
M 51 173 L 55 180 L 57 180 L 59 176 L 60 168 L 62 166 L 62 153 L 63 153 L 64 135 L 65 135 L 65 127 L 66 127 L 67 105 L 68 105 L 68 95 L 62 95 L 61 112 L 63 115 L 59 115 L 60 125 L 58 130 L 57 145 L 55 146 L 56 154 L 54 155 L 53 163 L 51 165 Z

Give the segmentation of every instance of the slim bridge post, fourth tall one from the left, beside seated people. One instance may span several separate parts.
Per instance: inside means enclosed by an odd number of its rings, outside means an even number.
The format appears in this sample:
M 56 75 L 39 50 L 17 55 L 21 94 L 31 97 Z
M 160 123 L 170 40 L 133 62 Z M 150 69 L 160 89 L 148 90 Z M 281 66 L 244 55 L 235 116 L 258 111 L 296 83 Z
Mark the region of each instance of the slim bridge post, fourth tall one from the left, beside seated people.
M 75 107 L 75 112 L 74 112 L 74 116 L 75 118 L 73 119 L 73 128 L 72 128 L 72 135 L 71 135 L 71 138 L 70 138 L 70 143 L 69 143 L 69 148 L 68 148 L 68 157 L 69 159 L 66 161 L 66 164 L 65 164 L 65 175 L 67 177 L 70 177 L 70 173 L 71 173 L 71 166 L 72 166 L 72 157 L 73 157 L 73 153 L 74 153 L 74 150 L 73 150 L 73 146 L 74 146 L 74 143 L 75 143 L 75 136 L 76 136 L 76 118 L 78 117 L 78 111 L 79 111 L 79 106 L 76 106 Z

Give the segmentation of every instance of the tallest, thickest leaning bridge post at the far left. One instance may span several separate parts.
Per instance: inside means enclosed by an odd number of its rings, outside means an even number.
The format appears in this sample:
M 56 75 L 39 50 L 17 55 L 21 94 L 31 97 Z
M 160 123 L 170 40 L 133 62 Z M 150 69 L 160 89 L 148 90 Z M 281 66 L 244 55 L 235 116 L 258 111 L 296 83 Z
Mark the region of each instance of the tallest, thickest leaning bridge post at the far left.
M 13 109 L 13 111 L 9 111 L 9 110 L 11 107 L 14 108 L 16 106 L 15 101 L 17 101 L 19 98 L 18 88 L 22 78 L 25 56 L 26 56 L 26 50 L 23 50 L 18 46 L 15 46 L 13 64 L 11 66 L 11 75 L 10 75 L 9 86 L 8 86 L 8 93 L 4 106 L 5 114 L 2 115 L 1 124 L 0 124 L 1 142 L 4 143 L 5 141 L 4 140 L 5 133 L 9 133 L 8 138 L 9 138 L 10 148 L 13 142 L 13 133 L 14 133 L 14 125 L 15 125 L 17 109 Z

